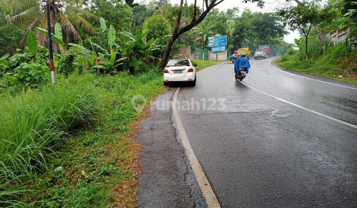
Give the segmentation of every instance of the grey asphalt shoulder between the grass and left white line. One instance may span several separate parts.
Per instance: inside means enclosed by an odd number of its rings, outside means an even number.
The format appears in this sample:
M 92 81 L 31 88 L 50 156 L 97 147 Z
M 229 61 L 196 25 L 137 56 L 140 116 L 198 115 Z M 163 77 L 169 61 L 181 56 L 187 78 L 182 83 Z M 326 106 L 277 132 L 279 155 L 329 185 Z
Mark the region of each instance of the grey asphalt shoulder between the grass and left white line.
M 168 89 L 151 104 L 151 116 L 140 121 L 134 138 L 144 146 L 142 172 L 137 176 L 140 207 L 205 206 L 171 120 L 174 90 Z

